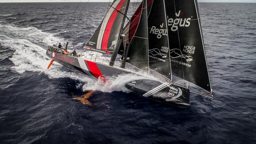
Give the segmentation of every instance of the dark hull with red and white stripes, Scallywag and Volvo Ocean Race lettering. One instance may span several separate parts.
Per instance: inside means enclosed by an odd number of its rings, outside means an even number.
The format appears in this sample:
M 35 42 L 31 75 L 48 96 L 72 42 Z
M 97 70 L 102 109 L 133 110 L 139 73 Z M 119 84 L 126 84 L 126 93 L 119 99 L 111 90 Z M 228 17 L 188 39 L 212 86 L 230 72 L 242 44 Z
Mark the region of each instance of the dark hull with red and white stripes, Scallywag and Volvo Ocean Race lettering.
M 66 66 L 76 72 L 83 73 L 94 79 L 101 79 L 108 81 L 108 76 L 118 76 L 121 74 L 132 74 L 134 76 L 138 73 L 128 71 L 123 68 L 111 67 L 103 63 L 95 63 L 90 60 L 63 55 L 57 52 L 47 51 L 46 55 L 63 66 Z M 132 92 L 136 92 L 144 97 L 165 102 L 168 104 L 189 107 L 189 89 L 180 87 L 168 82 L 157 79 L 134 80 L 126 83 L 126 87 Z

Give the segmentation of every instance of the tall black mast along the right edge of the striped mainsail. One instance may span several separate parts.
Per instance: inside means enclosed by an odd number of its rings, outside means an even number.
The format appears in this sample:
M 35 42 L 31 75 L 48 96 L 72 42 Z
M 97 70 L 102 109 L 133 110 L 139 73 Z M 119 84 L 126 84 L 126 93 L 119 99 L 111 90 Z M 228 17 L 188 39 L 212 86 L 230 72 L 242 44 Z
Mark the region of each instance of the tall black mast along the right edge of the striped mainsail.
M 123 14 L 123 15 L 124 15 L 124 18 L 123 18 L 122 26 L 121 26 L 121 29 L 122 29 L 122 30 L 120 30 L 120 32 L 119 32 L 117 46 L 116 46 L 116 49 L 114 50 L 114 53 L 113 53 L 113 55 L 112 55 L 112 57 L 111 57 L 111 60 L 110 60 L 110 63 L 109 63 L 110 66 L 113 66 L 113 65 L 114 65 L 115 60 L 116 60 L 116 55 L 117 55 L 117 53 L 118 53 L 118 51 L 119 51 L 119 48 L 120 48 L 120 46 L 121 46 L 121 44 L 122 44 L 122 41 L 123 41 L 123 39 L 122 39 L 120 36 L 121 36 L 121 33 L 123 32 L 124 21 L 125 21 L 125 17 L 127 17 L 126 14 L 127 14 L 127 11 L 128 11 L 129 4 L 130 4 L 130 0 L 128 0 L 128 1 L 127 1 L 127 4 L 126 4 L 125 12 L 124 12 L 124 14 Z M 127 18 L 127 19 L 128 19 L 128 18 Z

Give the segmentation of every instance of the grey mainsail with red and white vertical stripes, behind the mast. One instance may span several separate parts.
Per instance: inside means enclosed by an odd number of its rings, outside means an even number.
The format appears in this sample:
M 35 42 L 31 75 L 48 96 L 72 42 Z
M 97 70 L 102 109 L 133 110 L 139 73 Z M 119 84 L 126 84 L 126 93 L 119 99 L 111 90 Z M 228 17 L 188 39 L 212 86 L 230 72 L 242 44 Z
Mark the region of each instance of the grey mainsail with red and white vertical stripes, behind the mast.
M 104 19 L 85 45 L 86 49 L 109 54 L 114 52 L 128 3 L 129 0 L 113 1 Z

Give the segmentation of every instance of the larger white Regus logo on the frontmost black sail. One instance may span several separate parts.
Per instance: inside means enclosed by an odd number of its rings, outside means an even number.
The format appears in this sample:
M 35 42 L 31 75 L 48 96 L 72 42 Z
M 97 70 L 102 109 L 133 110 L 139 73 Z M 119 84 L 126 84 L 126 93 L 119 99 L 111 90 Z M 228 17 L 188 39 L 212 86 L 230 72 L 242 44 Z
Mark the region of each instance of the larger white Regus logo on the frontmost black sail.
M 184 20 L 183 19 L 180 19 L 178 17 L 180 17 L 180 15 L 183 15 L 184 13 L 179 11 L 178 13 L 176 12 L 175 15 L 176 15 L 176 19 L 173 20 L 172 18 L 169 19 L 169 17 L 167 16 L 167 24 L 168 26 L 172 26 L 171 27 L 171 30 L 172 31 L 176 31 L 178 29 L 178 26 L 180 27 L 189 27 L 190 26 L 190 21 L 191 18 L 185 18 Z

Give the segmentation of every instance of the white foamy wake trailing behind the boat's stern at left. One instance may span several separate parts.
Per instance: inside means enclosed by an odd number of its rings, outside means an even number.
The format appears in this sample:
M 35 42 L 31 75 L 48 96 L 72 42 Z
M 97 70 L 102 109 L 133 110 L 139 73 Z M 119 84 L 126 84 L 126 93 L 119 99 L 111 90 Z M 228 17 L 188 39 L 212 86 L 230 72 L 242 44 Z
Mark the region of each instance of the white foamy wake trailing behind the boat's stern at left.
M 55 43 L 58 39 L 52 34 L 42 32 L 34 27 L 19 28 L 13 25 L 0 24 L 0 28 L 1 44 L 15 50 L 12 58 L 10 58 L 14 64 L 12 68 L 15 71 L 19 73 L 24 73 L 25 71 L 39 72 L 46 74 L 50 78 L 70 77 L 81 81 L 90 79 L 83 74 L 72 72 L 56 62 L 47 70 L 47 66 L 51 61 L 46 56 L 47 45 Z M 45 47 L 43 48 L 39 44 Z

